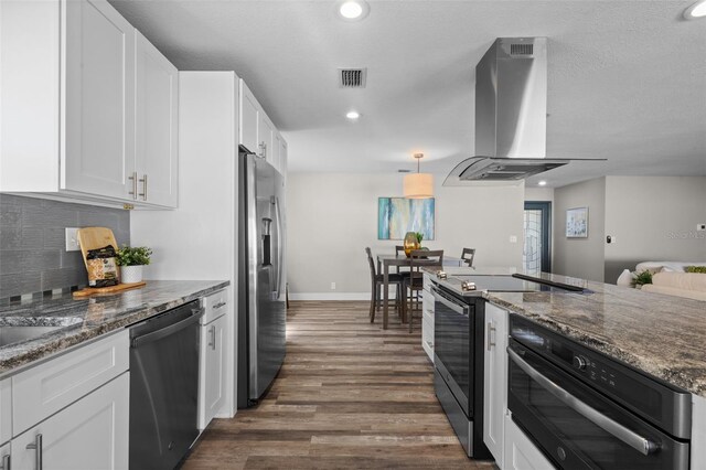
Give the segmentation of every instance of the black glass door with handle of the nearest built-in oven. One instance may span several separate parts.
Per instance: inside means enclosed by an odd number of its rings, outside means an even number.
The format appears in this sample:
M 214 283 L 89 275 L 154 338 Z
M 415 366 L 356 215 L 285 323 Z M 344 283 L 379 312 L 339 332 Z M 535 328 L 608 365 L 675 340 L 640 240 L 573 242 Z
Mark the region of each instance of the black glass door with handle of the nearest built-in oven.
M 676 440 L 511 340 L 507 407 L 564 469 L 688 469 Z

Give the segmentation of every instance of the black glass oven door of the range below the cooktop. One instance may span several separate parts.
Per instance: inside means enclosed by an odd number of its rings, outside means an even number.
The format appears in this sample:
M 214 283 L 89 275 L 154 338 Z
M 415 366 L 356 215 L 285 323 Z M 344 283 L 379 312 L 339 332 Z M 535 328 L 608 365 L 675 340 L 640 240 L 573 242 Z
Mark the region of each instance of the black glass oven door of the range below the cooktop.
M 473 376 L 473 306 L 432 287 L 434 292 L 434 354 L 435 366 L 456 397 L 463 413 L 473 417 L 471 377 Z

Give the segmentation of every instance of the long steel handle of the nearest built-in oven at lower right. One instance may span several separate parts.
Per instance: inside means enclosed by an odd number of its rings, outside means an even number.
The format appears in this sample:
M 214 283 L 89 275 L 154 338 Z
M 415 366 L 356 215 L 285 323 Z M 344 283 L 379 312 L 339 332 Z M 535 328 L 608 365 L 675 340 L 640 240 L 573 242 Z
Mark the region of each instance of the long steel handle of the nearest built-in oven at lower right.
M 566 406 L 574 409 L 576 413 L 584 416 L 596 426 L 601 427 L 605 431 L 610 432 L 616 438 L 622 440 L 628 446 L 635 449 L 638 452 L 642 453 L 643 456 L 649 456 L 650 453 L 654 453 L 660 449 L 660 446 L 657 444 L 612 420 L 608 416 L 601 414 L 596 408 L 585 404 L 584 402 L 542 375 L 536 368 L 534 368 L 532 365 L 527 364 L 525 360 L 520 357 L 520 354 L 513 351 L 510 346 L 507 346 L 507 354 L 520 368 L 522 368 L 527 375 L 530 375 L 530 377 L 542 385 L 542 387 L 544 387 L 552 395 L 560 399 Z

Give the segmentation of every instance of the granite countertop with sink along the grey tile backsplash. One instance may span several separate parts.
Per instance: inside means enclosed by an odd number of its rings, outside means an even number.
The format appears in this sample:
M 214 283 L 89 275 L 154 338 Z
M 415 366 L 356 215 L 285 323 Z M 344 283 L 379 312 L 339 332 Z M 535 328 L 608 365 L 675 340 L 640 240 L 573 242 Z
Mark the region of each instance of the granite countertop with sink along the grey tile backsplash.
M 141 289 L 74 299 L 71 293 L 0 307 L 0 327 L 58 330 L 0 348 L 0 376 L 228 286 L 222 280 L 148 280 Z

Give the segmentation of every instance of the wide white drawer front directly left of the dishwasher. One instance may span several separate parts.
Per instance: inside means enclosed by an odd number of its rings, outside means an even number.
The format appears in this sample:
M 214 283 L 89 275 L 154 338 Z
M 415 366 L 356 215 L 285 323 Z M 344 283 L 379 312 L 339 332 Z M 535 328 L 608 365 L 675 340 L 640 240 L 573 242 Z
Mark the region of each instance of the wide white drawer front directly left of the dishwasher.
M 129 348 L 124 330 L 11 377 L 12 436 L 127 371 Z

